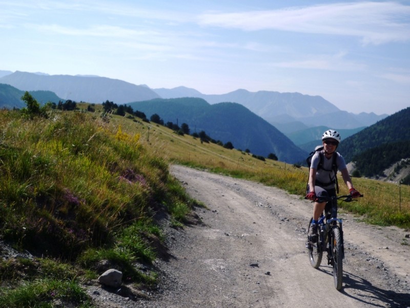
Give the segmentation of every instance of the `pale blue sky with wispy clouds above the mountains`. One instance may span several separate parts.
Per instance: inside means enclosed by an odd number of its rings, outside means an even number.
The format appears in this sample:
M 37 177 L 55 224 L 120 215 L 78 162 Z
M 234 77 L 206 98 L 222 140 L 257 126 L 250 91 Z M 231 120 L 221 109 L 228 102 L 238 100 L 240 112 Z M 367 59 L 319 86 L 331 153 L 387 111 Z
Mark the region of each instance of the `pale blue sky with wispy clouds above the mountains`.
M 410 106 L 410 1 L 0 0 L 0 70 Z

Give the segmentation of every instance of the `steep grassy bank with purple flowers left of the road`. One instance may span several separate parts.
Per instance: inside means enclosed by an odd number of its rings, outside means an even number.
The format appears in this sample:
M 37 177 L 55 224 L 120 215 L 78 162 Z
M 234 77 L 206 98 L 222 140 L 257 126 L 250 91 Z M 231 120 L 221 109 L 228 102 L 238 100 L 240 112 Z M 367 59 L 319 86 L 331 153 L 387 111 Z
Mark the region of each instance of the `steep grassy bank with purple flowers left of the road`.
M 88 306 L 81 281 L 98 277 L 101 262 L 125 283 L 155 284 L 153 271 L 138 269 L 155 260 L 153 241 L 164 240 L 153 217 L 161 209 L 183 220 L 174 204 L 194 203 L 168 162 L 121 120 L 0 111 L 0 238 L 40 257 L 0 263 L 2 306 Z

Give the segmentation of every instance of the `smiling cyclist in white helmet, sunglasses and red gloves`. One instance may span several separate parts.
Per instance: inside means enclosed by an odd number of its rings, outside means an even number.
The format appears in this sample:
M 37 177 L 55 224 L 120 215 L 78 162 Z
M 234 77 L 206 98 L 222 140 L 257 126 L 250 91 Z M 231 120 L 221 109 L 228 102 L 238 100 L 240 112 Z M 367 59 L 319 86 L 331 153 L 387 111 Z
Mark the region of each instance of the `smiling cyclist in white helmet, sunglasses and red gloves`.
M 336 130 L 329 129 L 323 133 L 323 150 L 315 152 L 312 157 L 312 164 L 309 172 L 309 187 L 308 193 L 306 194 L 307 199 L 316 201 L 317 197 L 320 196 L 336 196 L 336 172 L 332 166 L 334 162 L 336 162 L 337 169 L 342 174 L 343 181 L 349 189 L 350 195 L 353 198 L 360 196 L 360 192 L 353 187 L 344 158 L 336 152 L 340 140 L 340 134 Z M 321 163 L 320 166 L 319 163 Z M 314 243 L 318 238 L 317 222 L 325 205 L 326 202 L 315 202 L 313 206 L 313 220 L 311 227 L 309 228 L 308 236 Z

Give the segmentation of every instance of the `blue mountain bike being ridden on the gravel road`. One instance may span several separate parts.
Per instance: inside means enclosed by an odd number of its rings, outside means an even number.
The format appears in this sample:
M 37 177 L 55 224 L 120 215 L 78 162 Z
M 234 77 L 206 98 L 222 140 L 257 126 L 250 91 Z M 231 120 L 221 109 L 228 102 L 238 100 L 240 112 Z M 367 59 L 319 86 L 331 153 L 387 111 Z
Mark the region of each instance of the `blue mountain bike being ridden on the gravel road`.
M 363 195 L 360 195 L 363 197 Z M 318 221 L 318 239 L 317 242 L 312 242 L 309 237 L 306 242 L 306 248 L 309 249 L 309 260 L 314 268 L 319 268 L 322 262 L 323 252 L 327 252 L 327 264 L 333 267 L 333 280 L 336 290 L 342 288 L 343 283 L 343 263 L 344 246 L 343 246 L 343 227 L 342 220 L 337 218 L 337 201 L 344 199 L 344 202 L 357 201 L 351 195 L 319 197 L 316 202 L 326 202 L 323 213 Z M 312 201 L 314 202 L 314 201 Z M 311 227 L 313 218 L 309 222 Z

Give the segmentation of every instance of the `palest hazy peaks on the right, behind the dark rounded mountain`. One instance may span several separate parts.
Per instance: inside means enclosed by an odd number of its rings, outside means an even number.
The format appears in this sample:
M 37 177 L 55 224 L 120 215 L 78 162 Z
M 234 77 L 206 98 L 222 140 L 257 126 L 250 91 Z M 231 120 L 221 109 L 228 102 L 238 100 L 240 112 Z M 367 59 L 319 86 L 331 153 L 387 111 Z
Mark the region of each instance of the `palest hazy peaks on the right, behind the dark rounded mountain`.
M 206 100 L 210 104 L 220 102 L 239 103 L 286 134 L 315 126 L 338 129 L 370 126 L 387 117 L 387 114 L 377 115 L 373 112 L 354 114 L 342 111 L 320 96 L 303 95 L 297 92 L 249 92 L 239 89 L 226 94 L 208 95 L 186 87 L 160 88 L 154 89 L 154 91 L 164 99 L 197 97 Z

